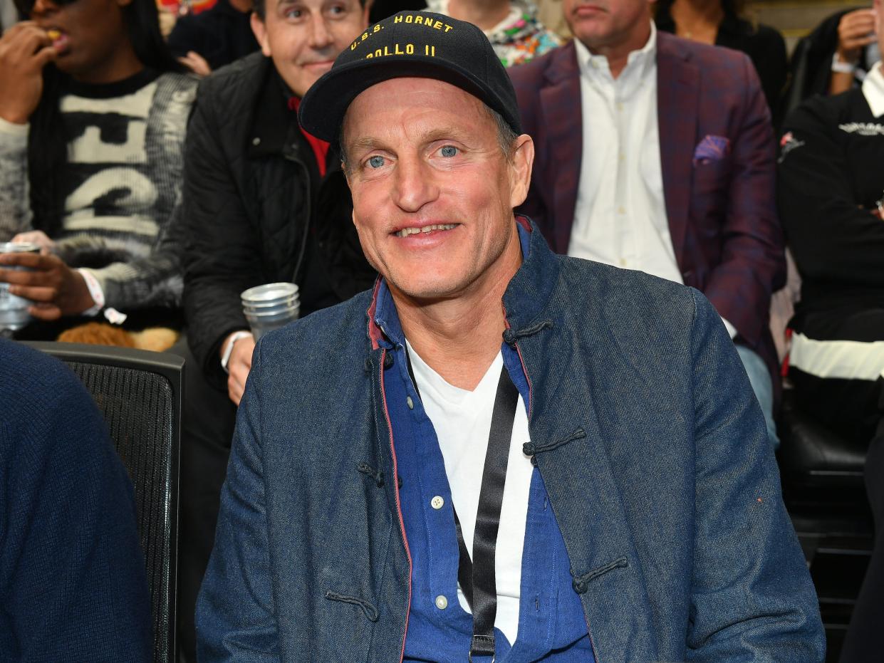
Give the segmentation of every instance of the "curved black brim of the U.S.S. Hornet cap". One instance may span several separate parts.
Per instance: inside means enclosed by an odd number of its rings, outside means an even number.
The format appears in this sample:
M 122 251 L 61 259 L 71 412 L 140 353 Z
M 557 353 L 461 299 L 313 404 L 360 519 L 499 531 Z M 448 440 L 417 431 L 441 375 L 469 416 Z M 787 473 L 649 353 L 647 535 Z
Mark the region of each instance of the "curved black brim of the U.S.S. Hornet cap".
M 411 55 L 362 59 L 325 72 L 304 95 L 299 113 L 301 126 L 316 138 L 338 141 L 347 108 L 358 95 L 385 80 L 411 77 L 450 83 L 476 96 L 507 121 L 513 121 L 507 109 L 498 108 L 494 95 L 474 74 L 450 61 L 439 65 L 434 57 Z

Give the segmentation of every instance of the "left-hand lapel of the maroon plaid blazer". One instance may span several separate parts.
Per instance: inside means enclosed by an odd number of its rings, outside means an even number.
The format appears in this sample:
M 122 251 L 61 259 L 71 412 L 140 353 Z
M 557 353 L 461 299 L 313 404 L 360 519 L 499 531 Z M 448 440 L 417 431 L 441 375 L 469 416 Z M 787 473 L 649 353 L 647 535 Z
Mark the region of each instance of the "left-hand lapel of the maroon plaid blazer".
M 548 162 L 541 181 L 552 191 L 553 249 L 567 254 L 583 153 L 580 71 L 574 42 L 557 50 L 545 71 L 545 82 L 540 90 L 540 106 Z

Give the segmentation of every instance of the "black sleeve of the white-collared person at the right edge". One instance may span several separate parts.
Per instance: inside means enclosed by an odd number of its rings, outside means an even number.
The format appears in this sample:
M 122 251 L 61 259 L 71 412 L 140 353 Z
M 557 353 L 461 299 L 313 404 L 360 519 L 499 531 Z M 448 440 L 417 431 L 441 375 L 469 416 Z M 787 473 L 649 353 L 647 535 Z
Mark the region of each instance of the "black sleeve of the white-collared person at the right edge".
M 845 149 L 836 140 L 838 103 L 843 96 L 814 97 L 786 119 L 779 158 L 780 218 L 802 278 L 880 285 L 884 221 L 856 200 Z

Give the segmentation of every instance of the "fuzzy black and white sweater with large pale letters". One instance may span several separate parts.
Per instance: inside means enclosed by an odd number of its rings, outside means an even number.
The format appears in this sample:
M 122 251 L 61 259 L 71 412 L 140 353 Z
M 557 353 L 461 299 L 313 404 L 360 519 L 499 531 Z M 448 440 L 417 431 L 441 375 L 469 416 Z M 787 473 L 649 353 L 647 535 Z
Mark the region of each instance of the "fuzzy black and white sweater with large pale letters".
M 98 280 L 115 309 L 175 307 L 179 251 L 168 240 L 181 197 L 184 137 L 197 80 L 145 70 L 110 85 L 69 83 L 56 251 Z M 0 241 L 32 230 L 27 125 L 0 120 Z

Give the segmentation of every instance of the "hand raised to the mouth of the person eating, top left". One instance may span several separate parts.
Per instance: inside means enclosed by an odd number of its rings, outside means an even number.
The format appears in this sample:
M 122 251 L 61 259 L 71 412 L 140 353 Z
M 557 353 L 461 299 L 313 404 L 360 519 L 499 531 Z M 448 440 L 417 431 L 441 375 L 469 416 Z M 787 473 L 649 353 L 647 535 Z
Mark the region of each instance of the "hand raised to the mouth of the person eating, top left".
M 49 34 L 31 20 L 0 37 L 0 118 L 27 124 L 43 94 L 43 67 L 56 55 Z

